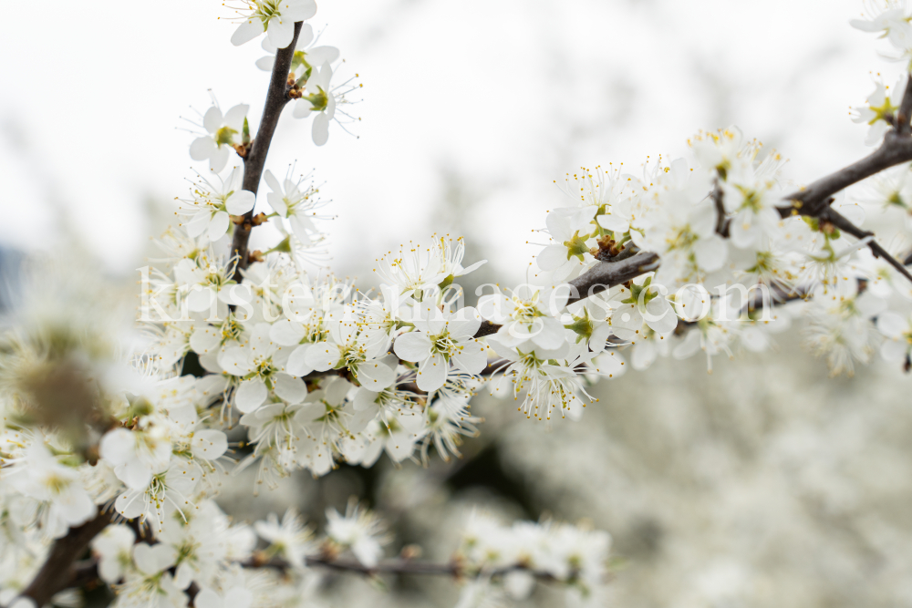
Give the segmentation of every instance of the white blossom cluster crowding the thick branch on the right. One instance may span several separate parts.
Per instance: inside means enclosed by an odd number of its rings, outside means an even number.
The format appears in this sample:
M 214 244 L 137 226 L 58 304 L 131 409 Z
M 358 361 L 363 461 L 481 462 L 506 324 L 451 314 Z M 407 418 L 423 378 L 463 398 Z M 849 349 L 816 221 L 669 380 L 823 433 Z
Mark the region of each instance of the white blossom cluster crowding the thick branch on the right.
M 792 212 L 781 156 L 735 127 L 701 132 L 689 148 L 689 159 L 648 161 L 637 175 L 596 167 L 567 176 L 575 204 L 547 215 L 540 283 L 559 289 L 601 262 L 658 254 L 654 272 L 568 306 L 558 318 L 569 343 L 575 334 L 590 353 L 607 346 L 596 361 L 610 353 L 616 365 L 627 352 L 635 369 L 702 352 L 711 370 L 713 356 L 770 348 L 775 334 L 801 323 L 834 374 L 851 374 L 879 344 L 888 360 L 905 359 L 907 322 L 878 315 L 891 304 L 907 309 L 910 284 L 867 249 L 870 237 Z M 878 208 L 908 213 L 909 175 L 908 164 L 889 170 L 831 209 L 855 225 Z

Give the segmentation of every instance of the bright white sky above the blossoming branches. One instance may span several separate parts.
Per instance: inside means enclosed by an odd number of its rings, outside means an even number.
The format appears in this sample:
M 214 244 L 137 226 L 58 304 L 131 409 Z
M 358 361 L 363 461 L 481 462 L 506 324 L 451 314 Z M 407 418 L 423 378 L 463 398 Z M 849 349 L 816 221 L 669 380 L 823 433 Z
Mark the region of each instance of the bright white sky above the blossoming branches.
M 47 246 L 67 225 L 129 272 L 161 229 L 149 201 L 170 212 L 191 166 L 204 169 L 179 117 L 205 111 L 212 88 L 223 109 L 249 103 L 255 125 L 263 52 L 231 45 L 217 0 L 41 4 L 36 22 L 31 3 L 0 0 L 0 244 Z M 333 125 L 317 149 L 289 113 L 267 167 L 297 160 L 326 181 L 339 273 L 450 232 L 445 171 L 470 192 L 465 236 L 514 274 L 533 253 L 529 231 L 565 201 L 553 180 L 580 165 L 636 169 L 731 123 L 780 149 L 799 183 L 860 158 L 865 128 L 848 107 L 870 72 L 892 83 L 900 69 L 848 26 L 860 11 L 858 0 L 326 1 L 311 23 L 347 59 L 339 77 L 364 83 L 349 108 L 360 137 Z

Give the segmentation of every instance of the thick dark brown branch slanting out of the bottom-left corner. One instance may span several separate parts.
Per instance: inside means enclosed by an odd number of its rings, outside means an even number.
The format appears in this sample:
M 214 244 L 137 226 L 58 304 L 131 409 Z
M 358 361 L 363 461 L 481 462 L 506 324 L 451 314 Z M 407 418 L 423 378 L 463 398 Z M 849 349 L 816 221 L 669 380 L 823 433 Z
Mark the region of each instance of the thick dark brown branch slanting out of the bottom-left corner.
M 73 568 L 73 562 L 88 549 L 88 543 L 98 532 L 105 529 L 110 518 L 110 513 L 98 513 L 94 520 L 89 520 L 78 528 L 70 528 L 66 536 L 54 541 L 45 564 L 22 595 L 35 600 L 38 606 L 43 606 L 51 601 L 55 593 L 70 586 L 70 582 L 79 575 Z

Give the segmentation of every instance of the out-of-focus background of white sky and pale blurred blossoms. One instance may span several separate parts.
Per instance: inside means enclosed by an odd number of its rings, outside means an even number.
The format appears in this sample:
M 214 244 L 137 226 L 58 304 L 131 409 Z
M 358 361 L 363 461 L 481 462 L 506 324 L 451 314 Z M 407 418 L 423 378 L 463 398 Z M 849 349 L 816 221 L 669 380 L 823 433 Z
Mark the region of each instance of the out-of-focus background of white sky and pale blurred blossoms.
M 234 47 L 220 2 L 2 3 L 0 261 L 67 248 L 129 290 L 176 222 L 195 169 L 192 135 L 208 88 L 259 117 L 268 75 L 258 43 Z M 554 185 L 580 166 L 683 154 L 698 129 L 737 124 L 790 159 L 794 185 L 865 154 L 848 117 L 882 75 L 848 21 L 857 0 L 347 0 L 319 3 L 321 44 L 358 74 L 363 101 L 317 149 L 310 124 L 280 122 L 267 167 L 315 170 L 338 218 L 333 269 L 375 284 L 371 263 L 432 232 L 463 235 L 477 283 L 523 277 Z M 218 17 L 221 16 L 222 19 Z M 261 201 L 264 203 L 264 201 Z M 268 225 L 267 225 L 268 226 Z M 273 239 L 267 227 L 253 246 Z M 534 235 L 532 235 L 534 236 Z M 541 239 L 538 239 L 539 241 Z M 596 387 L 581 423 L 545 426 L 480 397 L 482 435 L 428 469 L 381 459 L 326 478 L 287 479 L 241 519 L 295 504 L 367 500 L 397 545 L 446 560 L 461 517 L 588 519 L 617 556 L 624 606 L 912 606 L 910 379 L 876 364 L 827 377 L 798 340 L 719 361 L 660 359 Z M 402 579 L 389 593 L 347 577 L 334 604 L 452 605 L 448 581 Z M 367 593 L 367 594 L 366 594 Z M 547 589 L 529 605 L 554 605 Z

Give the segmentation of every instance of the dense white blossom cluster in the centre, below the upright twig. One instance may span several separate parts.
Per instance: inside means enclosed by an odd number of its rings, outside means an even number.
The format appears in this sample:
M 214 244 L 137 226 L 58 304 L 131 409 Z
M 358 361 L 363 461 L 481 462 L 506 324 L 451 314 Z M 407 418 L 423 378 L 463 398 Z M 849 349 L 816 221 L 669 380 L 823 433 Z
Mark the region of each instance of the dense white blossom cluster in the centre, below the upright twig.
M 411 285 L 397 301 L 332 275 L 312 279 L 287 252 L 265 255 L 236 282 L 232 263 L 183 238 L 186 253 L 150 285 L 150 366 L 212 386 L 219 416 L 247 428 L 252 452 L 241 467 L 257 462 L 259 480 L 272 485 L 302 468 L 325 475 L 339 461 L 369 467 L 384 452 L 426 460 L 430 445 L 446 459 L 476 432 L 468 402 L 487 365 L 487 346 L 473 337 L 481 319 L 472 307 L 441 311 L 442 295 L 430 292 L 465 272 L 461 242 L 415 252 L 423 271 L 436 264 L 418 283 L 403 258 L 381 261 Z M 188 353 L 209 376 L 179 376 Z

